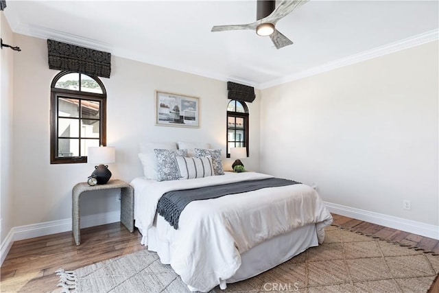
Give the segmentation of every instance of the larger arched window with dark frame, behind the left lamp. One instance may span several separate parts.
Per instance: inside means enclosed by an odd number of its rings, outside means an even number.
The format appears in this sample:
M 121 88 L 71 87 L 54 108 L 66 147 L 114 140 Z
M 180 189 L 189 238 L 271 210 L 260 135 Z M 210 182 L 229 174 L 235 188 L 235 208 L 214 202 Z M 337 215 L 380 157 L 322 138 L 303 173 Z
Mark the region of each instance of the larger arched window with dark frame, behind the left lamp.
M 106 91 L 95 76 L 61 71 L 51 83 L 50 163 L 86 163 L 106 145 Z

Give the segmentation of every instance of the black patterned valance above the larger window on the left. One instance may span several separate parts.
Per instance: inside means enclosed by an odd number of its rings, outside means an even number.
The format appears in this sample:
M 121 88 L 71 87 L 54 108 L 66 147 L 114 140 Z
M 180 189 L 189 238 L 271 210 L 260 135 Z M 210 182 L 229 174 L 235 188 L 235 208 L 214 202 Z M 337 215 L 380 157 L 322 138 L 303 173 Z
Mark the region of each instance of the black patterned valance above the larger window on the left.
M 110 78 L 111 54 L 47 40 L 49 69 L 69 70 Z

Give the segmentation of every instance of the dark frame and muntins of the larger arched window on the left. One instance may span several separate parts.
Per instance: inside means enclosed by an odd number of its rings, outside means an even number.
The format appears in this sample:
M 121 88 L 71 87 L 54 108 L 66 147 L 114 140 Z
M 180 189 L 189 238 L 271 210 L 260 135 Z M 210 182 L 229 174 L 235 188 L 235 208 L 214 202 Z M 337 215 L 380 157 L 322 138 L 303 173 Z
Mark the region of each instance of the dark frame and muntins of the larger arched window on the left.
M 82 89 L 81 87 L 81 75 L 87 75 L 88 77 L 92 78 L 99 84 L 99 86 L 102 89 L 102 93 L 90 93 L 86 91 L 75 91 L 75 90 L 69 90 L 69 89 L 59 89 L 56 88 L 56 82 L 62 76 L 67 75 L 69 73 L 78 73 L 79 74 L 79 81 L 78 81 L 78 88 Z M 87 156 L 58 156 L 58 98 L 59 97 L 67 97 L 71 99 L 80 99 L 85 101 L 93 101 L 93 102 L 99 102 L 99 145 L 106 145 L 106 89 L 104 84 L 102 83 L 99 78 L 95 75 L 89 75 L 86 73 L 80 73 L 76 71 L 61 71 L 57 75 L 55 75 L 54 79 L 51 82 L 51 100 L 50 100 L 50 163 L 51 164 L 68 164 L 68 163 L 87 163 Z M 82 119 L 82 113 L 80 110 L 80 114 L 78 119 L 81 121 Z M 81 131 L 79 133 L 78 139 L 81 141 Z M 80 143 L 81 145 L 81 143 Z M 81 152 L 80 152 L 81 154 Z

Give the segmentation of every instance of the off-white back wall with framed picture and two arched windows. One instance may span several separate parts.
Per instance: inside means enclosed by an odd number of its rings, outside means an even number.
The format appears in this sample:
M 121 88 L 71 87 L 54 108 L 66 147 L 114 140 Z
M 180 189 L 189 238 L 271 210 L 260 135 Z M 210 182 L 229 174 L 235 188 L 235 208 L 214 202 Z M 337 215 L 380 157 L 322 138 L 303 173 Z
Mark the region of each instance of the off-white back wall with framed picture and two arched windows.
M 15 34 L 21 53 L 14 60 L 14 226 L 71 218 L 71 189 L 84 182 L 93 164 L 50 165 L 50 84 L 59 72 L 47 65 L 47 43 Z M 147 52 L 145 52 L 147 54 Z M 112 178 L 130 182 L 143 175 L 137 157 L 141 141 L 206 141 L 225 153 L 226 82 L 112 57 L 108 93 L 107 145 L 116 148 Z M 200 98 L 200 128 L 154 125 L 154 90 Z M 250 158 L 259 169 L 259 100 L 250 110 Z M 226 160 L 225 165 L 231 165 Z M 110 191 L 111 192 L 111 191 Z M 118 211 L 117 194 L 95 193 L 82 198 L 82 215 Z

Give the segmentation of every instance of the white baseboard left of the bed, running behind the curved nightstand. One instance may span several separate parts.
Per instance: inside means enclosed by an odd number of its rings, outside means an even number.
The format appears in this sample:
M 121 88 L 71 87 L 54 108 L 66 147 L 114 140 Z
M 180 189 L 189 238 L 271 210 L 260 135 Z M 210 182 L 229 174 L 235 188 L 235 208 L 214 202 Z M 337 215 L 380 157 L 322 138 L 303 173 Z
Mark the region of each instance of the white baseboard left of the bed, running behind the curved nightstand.
M 81 217 L 81 228 L 119 222 L 120 216 L 120 211 L 98 213 L 96 215 L 84 215 Z M 3 264 L 3 261 L 5 260 L 6 255 L 8 255 L 14 241 L 67 231 L 71 231 L 71 218 L 12 228 L 4 239 L 3 243 L 1 244 L 0 265 Z

